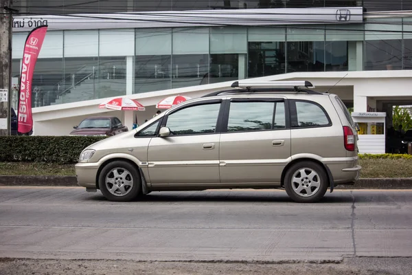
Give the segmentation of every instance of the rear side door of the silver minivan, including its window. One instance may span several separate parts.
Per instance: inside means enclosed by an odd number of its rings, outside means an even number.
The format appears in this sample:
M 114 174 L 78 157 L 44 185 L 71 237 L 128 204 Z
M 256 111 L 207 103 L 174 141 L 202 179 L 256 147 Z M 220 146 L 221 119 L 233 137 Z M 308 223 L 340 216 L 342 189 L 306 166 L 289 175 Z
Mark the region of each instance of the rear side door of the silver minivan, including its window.
M 220 136 L 222 183 L 279 183 L 290 159 L 283 98 L 232 98 Z

